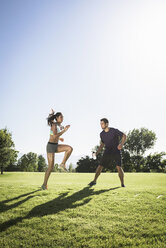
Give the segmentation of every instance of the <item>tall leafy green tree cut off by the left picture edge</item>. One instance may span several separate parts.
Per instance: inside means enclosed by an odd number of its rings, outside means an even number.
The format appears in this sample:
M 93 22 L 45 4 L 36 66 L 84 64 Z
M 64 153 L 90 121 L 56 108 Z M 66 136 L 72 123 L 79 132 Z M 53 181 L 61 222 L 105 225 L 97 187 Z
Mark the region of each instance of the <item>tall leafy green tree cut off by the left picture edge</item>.
M 12 135 L 7 128 L 0 129 L 0 168 L 1 174 L 4 169 L 13 165 L 17 161 L 18 152 L 14 149 L 15 145 Z

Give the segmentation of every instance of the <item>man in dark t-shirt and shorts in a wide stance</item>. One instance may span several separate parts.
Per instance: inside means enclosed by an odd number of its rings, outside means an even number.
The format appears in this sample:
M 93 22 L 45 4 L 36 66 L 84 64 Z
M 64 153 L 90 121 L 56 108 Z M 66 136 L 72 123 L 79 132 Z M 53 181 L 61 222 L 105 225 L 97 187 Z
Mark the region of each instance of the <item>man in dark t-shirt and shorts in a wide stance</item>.
M 105 150 L 100 165 L 96 169 L 94 180 L 88 185 L 93 186 L 96 184 L 97 178 L 99 177 L 103 167 L 109 168 L 110 163 L 115 163 L 121 181 L 121 186 L 125 187 L 124 172 L 121 167 L 121 149 L 126 141 L 126 135 L 118 129 L 108 127 L 109 122 L 106 118 L 100 120 L 100 125 L 103 131 L 100 133 L 101 142 L 96 152 L 96 156 L 104 146 Z

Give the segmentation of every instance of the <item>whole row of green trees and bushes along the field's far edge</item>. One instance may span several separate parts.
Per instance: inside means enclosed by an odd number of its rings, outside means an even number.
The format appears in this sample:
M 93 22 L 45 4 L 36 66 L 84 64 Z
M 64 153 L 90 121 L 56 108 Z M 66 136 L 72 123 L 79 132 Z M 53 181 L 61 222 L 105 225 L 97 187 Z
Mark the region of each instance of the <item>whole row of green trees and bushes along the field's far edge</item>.
M 145 156 L 145 152 L 154 147 L 156 134 L 146 128 L 133 129 L 127 133 L 127 140 L 122 149 L 122 166 L 125 172 L 166 172 L 166 153 L 154 153 Z M 93 151 L 96 151 L 96 146 Z M 97 159 L 89 156 L 82 157 L 77 162 L 77 167 L 69 165 L 69 172 L 95 172 L 100 163 L 104 149 L 98 154 Z M 42 155 L 29 152 L 18 158 L 18 151 L 12 140 L 12 134 L 5 129 L 0 130 L 0 168 L 3 171 L 39 171 L 43 172 L 47 168 L 47 163 Z M 58 164 L 54 166 L 54 172 L 61 172 Z M 115 171 L 115 167 L 110 165 L 109 169 Z

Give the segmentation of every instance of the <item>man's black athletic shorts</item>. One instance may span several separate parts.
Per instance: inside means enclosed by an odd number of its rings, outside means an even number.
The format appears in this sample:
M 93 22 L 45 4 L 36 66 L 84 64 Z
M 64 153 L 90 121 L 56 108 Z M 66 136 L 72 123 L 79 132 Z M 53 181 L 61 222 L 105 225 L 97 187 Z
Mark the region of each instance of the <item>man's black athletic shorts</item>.
M 101 158 L 100 165 L 109 168 L 110 165 L 122 166 L 122 157 L 120 152 L 106 153 L 104 152 L 103 157 Z

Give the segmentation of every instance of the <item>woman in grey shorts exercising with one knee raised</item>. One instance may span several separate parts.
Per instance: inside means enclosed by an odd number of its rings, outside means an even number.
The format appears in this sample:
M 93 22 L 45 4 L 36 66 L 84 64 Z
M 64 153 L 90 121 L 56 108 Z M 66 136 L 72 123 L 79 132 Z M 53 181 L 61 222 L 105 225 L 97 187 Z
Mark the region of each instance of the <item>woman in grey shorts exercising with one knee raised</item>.
M 41 186 L 43 190 L 47 189 L 47 181 L 51 174 L 51 171 L 54 167 L 54 154 L 59 152 L 65 152 L 62 163 L 60 164 L 60 168 L 66 169 L 66 161 L 70 157 L 73 148 L 69 145 L 59 145 L 58 141 L 64 141 L 60 136 L 65 133 L 70 125 L 67 125 L 65 128 L 61 125 L 63 122 L 62 113 L 58 112 L 55 114 L 54 110 L 52 110 L 51 114 L 49 114 L 48 125 L 51 127 L 50 129 L 50 139 L 47 143 L 47 158 L 48 158 L 48 169 L 45 172 L 44 183 Z

